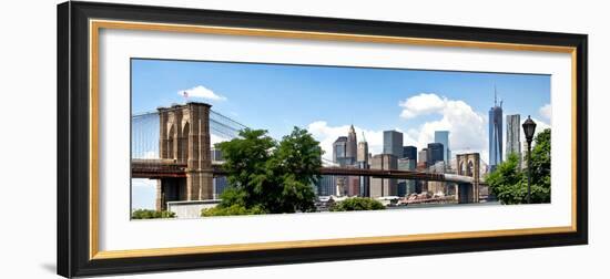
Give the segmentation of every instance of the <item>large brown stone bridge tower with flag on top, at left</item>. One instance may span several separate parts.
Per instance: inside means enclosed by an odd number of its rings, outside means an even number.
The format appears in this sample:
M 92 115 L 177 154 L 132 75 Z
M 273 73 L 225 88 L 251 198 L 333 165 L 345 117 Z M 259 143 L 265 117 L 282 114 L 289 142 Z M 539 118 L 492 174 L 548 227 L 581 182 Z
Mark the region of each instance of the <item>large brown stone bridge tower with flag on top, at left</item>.
M 156 185 L 156 209 L 172 200 L 213 198 L 210 154 L 210 104 L 159 107 L 159 156 L 162 161 L 185 165 L 186 179 L 162 178 Z

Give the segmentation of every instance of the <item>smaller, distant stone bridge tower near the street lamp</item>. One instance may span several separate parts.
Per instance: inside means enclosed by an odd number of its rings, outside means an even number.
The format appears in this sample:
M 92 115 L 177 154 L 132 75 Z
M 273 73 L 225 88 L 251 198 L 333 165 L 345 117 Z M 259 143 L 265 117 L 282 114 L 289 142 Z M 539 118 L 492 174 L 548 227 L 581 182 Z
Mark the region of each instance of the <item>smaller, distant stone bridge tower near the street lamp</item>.
M 480 155 L 478 153 L 457 154 L 458 175 L 475 178 L 471 187 L 459 184 L 456 196 L 460 204 L 479 203 Z

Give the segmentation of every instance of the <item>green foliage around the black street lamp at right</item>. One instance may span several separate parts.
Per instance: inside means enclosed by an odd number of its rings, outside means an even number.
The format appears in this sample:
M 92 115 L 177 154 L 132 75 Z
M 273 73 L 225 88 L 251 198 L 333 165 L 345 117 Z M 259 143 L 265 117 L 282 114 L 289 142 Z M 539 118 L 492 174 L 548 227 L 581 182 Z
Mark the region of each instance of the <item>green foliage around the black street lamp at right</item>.
M 531 203 L 550 203 L 550 130 L 540 132 L 531 151 Z M 527 151 L 523 151 L 527 152 Z M 486 177 L 489 188 L 502 204 L 527 203 L 528 169 L 521 169 L 519 156 L 511 154 Z

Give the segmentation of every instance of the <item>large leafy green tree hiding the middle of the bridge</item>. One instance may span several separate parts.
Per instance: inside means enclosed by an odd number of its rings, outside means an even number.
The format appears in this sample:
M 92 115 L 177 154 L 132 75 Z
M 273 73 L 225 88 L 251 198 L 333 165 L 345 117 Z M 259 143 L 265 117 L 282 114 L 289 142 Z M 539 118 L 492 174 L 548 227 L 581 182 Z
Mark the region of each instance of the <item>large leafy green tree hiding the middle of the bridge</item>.
M 315 210 L 312 185 L 319 178 L 322 148 L 306 130 L 294 127 L 277 143 L 264 130 L 246 128 L 216 147 L 231 186 L 217 208 L 202 216 Z

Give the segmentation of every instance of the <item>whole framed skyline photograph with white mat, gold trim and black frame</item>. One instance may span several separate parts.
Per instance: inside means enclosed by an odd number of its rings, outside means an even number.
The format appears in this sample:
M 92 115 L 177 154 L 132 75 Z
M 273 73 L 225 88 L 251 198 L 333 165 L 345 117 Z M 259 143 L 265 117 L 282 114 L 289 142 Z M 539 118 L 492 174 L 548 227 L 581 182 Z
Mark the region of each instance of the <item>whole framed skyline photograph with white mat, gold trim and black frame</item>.
M 587 35 L 58 7 L 64 277 L 587 244 Z

